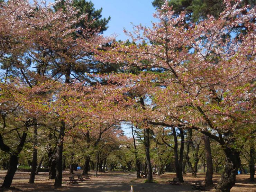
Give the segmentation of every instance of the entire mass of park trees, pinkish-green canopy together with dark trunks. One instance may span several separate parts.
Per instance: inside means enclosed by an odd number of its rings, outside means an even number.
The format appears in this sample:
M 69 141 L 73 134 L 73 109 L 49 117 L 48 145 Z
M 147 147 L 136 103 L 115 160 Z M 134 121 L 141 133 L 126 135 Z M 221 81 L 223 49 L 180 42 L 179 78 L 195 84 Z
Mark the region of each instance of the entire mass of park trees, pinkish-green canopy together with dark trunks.
M 155 0 L 152 27 L 124 30 L 132 43 L 103 36 L 110 17 L 92 2 L 0 3 L 2 188 L 21 163 L 34 183 L 43 159 L 55 188 L 66 165 L 148 182 L 207 165 L 217 192 L 247 167 L 254 181 L 253 2 Z

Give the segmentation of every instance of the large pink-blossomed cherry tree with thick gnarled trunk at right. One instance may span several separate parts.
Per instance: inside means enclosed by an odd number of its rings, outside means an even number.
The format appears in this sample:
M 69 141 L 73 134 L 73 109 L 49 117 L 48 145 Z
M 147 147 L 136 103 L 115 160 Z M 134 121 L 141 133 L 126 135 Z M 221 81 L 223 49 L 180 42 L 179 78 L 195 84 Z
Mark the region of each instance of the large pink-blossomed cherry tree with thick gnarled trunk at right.
M 226 166 L 217 192 L 230 191 L 235 184 L 239 134 L 255 132 L 255 8 L 225 2 L 227 8 L 218 19 L 209 16 L 197 25 L 184 22 L 185 12 L 175 17 L 165 3 L 154 15 L 159 22 L 152 28 L 125 30 L 137 45 L 95 50 L 103 62 L 152 71 L 110 77 L 126 90 L 130 84 L 138 97 L 151 99 L 145 112 L 134 108 L 130 116 L 139 114 L 138 119 L 148 124 L 195 129 L 222 146 Z

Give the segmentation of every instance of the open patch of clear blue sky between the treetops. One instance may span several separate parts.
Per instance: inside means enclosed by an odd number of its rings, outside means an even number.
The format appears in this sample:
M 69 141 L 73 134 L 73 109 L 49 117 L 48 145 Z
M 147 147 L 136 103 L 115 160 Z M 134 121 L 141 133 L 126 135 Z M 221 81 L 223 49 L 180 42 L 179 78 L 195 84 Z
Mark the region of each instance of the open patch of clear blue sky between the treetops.
M 91 0 L 95 9 L 102 8 L 102 17 L 111 17 L 109 28 L 104 31 L 104 35 L 116 33 L 117 40 L 126 40 L 128 37 L 123 29 L 132 30 L 131 22 L 134 25 L 143 24 L 151 27 L 155 8 L 152 6 L 153 0 Z

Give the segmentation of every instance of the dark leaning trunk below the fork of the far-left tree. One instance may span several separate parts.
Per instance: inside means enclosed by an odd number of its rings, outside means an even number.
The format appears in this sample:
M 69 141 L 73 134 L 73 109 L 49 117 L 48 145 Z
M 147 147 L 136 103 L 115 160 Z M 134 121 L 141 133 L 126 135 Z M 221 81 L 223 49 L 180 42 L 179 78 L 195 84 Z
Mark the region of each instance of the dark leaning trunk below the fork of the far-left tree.
M 10 165 L 8 167 L 6 176 L 4 177 L 4 181 L 1 188 L 9 188 L 11 186 L 14 174 L 17 170 L 18 156 L 16 154 L 11 154 L 9 162 L 10 162 Z

